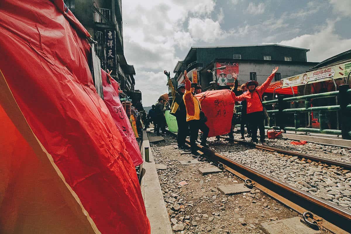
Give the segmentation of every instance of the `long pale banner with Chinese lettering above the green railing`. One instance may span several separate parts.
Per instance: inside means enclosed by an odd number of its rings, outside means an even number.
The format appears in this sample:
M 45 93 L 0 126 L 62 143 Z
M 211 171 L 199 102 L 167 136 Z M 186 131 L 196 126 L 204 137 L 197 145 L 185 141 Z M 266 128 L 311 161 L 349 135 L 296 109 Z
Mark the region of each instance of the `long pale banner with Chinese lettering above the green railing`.
M 320 81 L 331 80 L 331 77 L 334 79 L 339 79 L 347 76 L 351 71 L 351 62 L 345 62 L 342 64 L 325 67 L 316 71 L 306 72 L 303 74 L 291 76 L 288 78 L 282 79 L 283 86 L 299 86 L 305 85 L 306 83 L 315 83 Z

